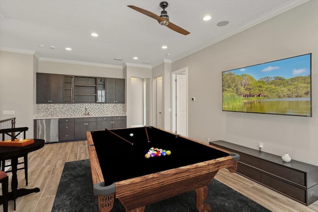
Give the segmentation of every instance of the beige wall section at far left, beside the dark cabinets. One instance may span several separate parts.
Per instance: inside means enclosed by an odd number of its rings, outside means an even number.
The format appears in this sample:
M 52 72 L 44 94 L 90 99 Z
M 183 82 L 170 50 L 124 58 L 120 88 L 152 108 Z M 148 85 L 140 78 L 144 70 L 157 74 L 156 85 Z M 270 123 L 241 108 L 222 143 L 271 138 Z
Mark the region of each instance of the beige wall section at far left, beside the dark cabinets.
M 29 138 L 33 138 L 34 60 L 32 54 L 0 51 L 0 120 L 16 117 L 16 127 L 28 127 Z M 2 115 L 3 110 L 15 114 Z

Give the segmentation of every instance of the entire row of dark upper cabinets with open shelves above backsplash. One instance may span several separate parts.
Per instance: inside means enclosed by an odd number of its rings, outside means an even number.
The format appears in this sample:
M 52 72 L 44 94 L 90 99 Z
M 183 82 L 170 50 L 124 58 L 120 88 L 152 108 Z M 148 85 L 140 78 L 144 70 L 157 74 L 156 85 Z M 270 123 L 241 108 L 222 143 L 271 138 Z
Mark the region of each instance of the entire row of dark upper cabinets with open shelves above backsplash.
M 125 103 L 125 79 L 36 74 L 36 103 Z

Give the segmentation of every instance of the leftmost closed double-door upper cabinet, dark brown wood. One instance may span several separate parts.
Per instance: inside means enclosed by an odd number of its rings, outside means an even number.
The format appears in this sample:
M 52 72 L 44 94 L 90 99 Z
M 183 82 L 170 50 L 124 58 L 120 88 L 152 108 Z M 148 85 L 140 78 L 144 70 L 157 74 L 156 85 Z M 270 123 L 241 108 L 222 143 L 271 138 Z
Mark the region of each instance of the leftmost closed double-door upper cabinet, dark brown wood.
M 63 75 L 36 73 L 36 103 L 63 103 Z

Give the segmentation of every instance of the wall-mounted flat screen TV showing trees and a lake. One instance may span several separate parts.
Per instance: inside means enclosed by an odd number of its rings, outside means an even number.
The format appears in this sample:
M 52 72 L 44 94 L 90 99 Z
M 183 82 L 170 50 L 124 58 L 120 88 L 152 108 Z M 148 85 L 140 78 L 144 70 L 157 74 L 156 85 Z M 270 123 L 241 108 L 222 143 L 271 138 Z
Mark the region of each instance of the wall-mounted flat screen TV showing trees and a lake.
M 312 54 L 222 72 L 222 110 L 312 117 Z

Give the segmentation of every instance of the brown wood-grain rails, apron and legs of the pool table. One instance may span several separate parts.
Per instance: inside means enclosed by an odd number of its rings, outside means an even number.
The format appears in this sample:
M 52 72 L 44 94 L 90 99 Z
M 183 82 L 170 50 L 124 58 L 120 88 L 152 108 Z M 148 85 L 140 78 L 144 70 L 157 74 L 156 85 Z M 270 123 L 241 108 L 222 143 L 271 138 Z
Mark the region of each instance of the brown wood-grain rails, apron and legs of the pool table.
M 101 173 L 90 132 L 87 132 L 87 143 L 94 185 L 96 183 L 104 182 L 104 178 Z M 211 145 L 209 144 L 202 144 L 211 148 Z M 225 151 L 221 148 L 218 149 Z M 208 204 L 203 203 L 208 195 L 209 183 L 212 181 L 218 170 L 236 167 L 235 164 L 238 159 L 239 157 L 236 156 L 226 156 L 115 182 L 115 196 L 126 208 L 126 211 L 144 212 L 146 205 L 174 197 L 187 191 L 195 190 L 197 210 L 199 212 L 211 212 L 211 207 Z M 235 168 L 232 168 L 232 171 L 234 170 Z M 113 207 L 114 196 L 106 195 L 103 198 L 106 198 L 107 201 L 109 200 L 112 203 L 99 202 L 99 210 L 101 212 L 109 212 Z

